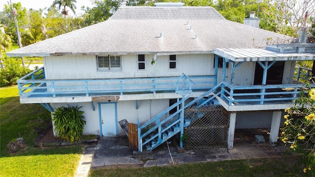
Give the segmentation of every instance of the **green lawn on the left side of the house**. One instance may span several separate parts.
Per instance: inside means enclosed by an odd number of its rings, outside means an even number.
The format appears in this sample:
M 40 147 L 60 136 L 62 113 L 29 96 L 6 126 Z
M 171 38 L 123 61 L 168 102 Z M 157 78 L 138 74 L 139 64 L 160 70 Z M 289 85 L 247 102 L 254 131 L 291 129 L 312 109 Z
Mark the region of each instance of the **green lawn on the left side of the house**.
M 0 88 L 1 177 L 74 175 L 83 146 L 34 148 L 39 136 L 34 128 L 45 129 L 50 121 L 49 111 L 40 104 L 20 104 L 17 86 Z M 24 139 L 27 148 L 10 154 L 6 145 L 19 137 Z

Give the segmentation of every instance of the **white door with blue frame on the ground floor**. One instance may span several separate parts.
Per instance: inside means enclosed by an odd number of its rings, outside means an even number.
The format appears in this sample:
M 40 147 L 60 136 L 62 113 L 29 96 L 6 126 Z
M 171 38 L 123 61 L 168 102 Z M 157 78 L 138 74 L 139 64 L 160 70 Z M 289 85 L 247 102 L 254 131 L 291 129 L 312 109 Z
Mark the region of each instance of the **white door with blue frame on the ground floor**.
M 103 136 L 117 135 L 116 103 L 100 104 L 100 120 Z

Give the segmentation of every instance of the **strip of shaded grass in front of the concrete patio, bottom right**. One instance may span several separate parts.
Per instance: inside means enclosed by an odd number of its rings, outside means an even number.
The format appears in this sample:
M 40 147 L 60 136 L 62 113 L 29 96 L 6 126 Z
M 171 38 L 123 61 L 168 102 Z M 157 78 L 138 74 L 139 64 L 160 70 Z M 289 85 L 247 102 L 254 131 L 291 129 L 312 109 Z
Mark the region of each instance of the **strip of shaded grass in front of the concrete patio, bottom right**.
M 188 163 L 166 167 L 93 169 L 90 177 L 311 177 L 299 156 Z

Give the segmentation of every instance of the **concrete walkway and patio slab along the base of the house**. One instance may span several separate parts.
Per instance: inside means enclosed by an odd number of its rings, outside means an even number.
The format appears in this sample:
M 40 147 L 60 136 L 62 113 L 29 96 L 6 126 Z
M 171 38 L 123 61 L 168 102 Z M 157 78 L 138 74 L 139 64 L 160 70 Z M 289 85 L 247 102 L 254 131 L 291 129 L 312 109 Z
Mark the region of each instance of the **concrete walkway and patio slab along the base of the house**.
M 236 137 L 242 137 L 242 135 L 237 135 L 236 132 Z M 241 139 L 243 141 L 240 141 Z M 97 145 L 86 147 L 75 177 L 88 177 L 90 168 L 101 168 L 111 165 L 153 167 L 190 162 L 215 162 L 246 158 L 282 157 L 286 155 L 285 150 L 287 148 L 284 148 L 282 142 L 278 142 L 279 145 L 277 147 L 271 147 L 267 139 L 266 142 L 259 144 L 254 139 L 248 138 L 248 136 L 241 139 L 235 140 L 232 150 L 215 148 L 186 150 L 183 153 L 178 153 L 175 147 L 170 146 L 170 155 L 166 143 L 153 151 L 132 152 L 128 149 L 127 137 L 103 137 L 98 141 Z

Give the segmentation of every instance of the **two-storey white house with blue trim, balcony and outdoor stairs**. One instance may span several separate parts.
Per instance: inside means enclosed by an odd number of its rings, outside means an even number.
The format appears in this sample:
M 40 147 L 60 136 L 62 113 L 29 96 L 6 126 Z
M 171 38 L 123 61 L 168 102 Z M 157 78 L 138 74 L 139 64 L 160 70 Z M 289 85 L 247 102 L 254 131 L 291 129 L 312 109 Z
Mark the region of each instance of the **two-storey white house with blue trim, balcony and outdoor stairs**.
M 105 22 L 7 56 L 43 57 L 42 68 L 18 81 L 20 102 L 50 112 L 82 106 L 84 134 L 124 134 L 118 121 L 126 119 L 138 124 L 139 151 L 153 149 L 183 136 L 185 108 L 211 103 L 228 112 L 231 149 L 235 128 L 271 128 L 276 146 L 283 111 L 303 87 L 293 82 L 295 61 L 315 60 L 309 47 L 288 52 L 289 40 L 228 21 L 213 7 L 157 3 L 120 7 Z

